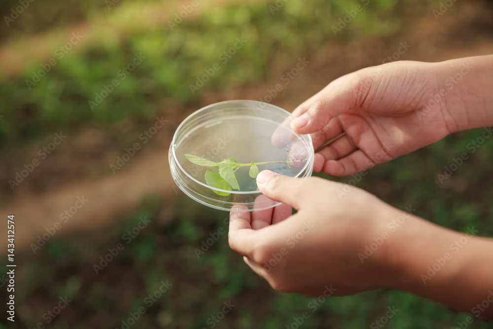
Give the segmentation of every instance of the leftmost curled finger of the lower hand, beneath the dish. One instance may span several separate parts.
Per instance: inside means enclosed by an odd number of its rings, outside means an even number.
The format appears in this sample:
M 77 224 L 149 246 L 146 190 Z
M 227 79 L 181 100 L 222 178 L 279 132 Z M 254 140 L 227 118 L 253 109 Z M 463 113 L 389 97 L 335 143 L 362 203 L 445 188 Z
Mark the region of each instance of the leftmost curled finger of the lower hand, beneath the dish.
M 250 257 L 255 231 L 251 228 L 251 213 L 232 211 L 229 214 L 229 247 L 240 255 Z

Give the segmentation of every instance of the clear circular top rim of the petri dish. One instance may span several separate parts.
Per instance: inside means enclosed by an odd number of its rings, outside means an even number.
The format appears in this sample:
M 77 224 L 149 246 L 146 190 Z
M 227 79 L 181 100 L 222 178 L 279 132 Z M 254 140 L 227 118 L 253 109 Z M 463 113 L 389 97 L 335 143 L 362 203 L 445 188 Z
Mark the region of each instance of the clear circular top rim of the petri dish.
M 189 123 L 188 121 L 193 117 L 193 116 L 196 116 L 196 115 L 199 115 L 201 112 L 204 112 L 206 110 L 210 110 L 210 108 L 212 107 L 215 107 L 215 106 L 218 106 L 218 105 L 227 105 L 227 104 L 238 104 L 238 103 L 255 103 L 257 105 L 259 104 L 266 104 L 268 107 L 272 107 L 272 108 L 275 108 L 277 110 L 281 110 L 281 112 L 284 112 L 287 114 L 288 117 L 292 117 L 294 118 L 295 116 L 291 113 L 289 113 L 288 111 L 278 107 L 278 106 L 275 106 L 275 105 L 272 105 L 270 103 L 264 103 L 264 102 L 259 102 L 259 101 L 253 101 L 253 100 L 231 100 L 231 101 L 223 101 L 223 102 L 218 102 L 218 103 L 214 103 L 214 104 L 210 104 L 206 107 L 203 107 L 202 109 L 199 109 L 199 110 L 196 110 L 194 111 L 193 113 L 191 113 L 190 115 L 188 115 L 179 125 L 178 125 L 178 128 L 176 128 L 176 131 L 175 131 L 175 134 L 173 135 L 173 140 L 171 142 L 171 148 L 172 148 L 172 155 L 173 155 L 173 161 L 175 162 L 176 166 L 178 167 L 179 171 L 182 172 L 183 174 L 185 174 L 189 179 L 191 179 L 192 181 L 206 187 L 206 188 L 209 188 L 211 190 L 215 190 L 215 191 L 219 191 L 219 192 L 226 192 L 226 193 L 231 193 L 231 194 L 256 194 L 256 193 L 261 193 L 260 190 L 256 190 L 256 191 L 230 191 L 230 190 L 225 190 L 225 189 L 221 189 L 221 188 L 215 188 L 215 187 L 212 187 L 212 186 L 209 186 L 207 184 L 204 184 L 198 180 L 196 180 L 194 177 L 190 176 L 188 174 L 188 172 L 186 170 L 183 169 L 183 167 L 181 167 L 180 163 L 178 162 L 178 159 L 176 158 L 176 149 L 175 149 L 175 145 L 176 145 L 176 136 L 178 135 L 178 132 L 183 128 L 183 126 L 187 123 Z M 222 109 L 222 110 L 226 110 L 226 109 Z M 261 118 L 259 118 L 261 119 Z M 198 126 L 200 127 L 200 126 Z M 198 128 L 193 128 L 191 129 L 191 131 L 195 130 L 195 129 L 198 129 Z M 310 165 L 311 163 L 311 160 L 312 160 L 312 157 L 314 156 L 314 149 L 313 149 L 313 142 L 312 142 L 312 137 L 310 136 L 310 134 L 307 134 L 307 135 L 299 135 L 299 134 L 296 134 L 297 136 L 306 136 L 308 138 L 308 147 L 309 147 L 309 157 L 305 163 L 305 165 L 303 166 L 303 168 L 301 168 L 298 172 L 298 174 L 296 174 L 296 176 L 294 176 L 294 178 L 297 178 L 299 177 L 303 172 L 305 172 L 305 170 L 307 169 L 307 167 Z

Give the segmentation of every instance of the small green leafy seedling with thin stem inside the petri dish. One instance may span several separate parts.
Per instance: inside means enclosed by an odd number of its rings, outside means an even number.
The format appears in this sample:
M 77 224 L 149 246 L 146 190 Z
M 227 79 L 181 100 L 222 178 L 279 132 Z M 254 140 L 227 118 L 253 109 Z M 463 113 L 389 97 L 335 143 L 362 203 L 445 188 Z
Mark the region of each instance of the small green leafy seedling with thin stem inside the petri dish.
M 240 190 L 240 185 L 238 184 L 238 180 L 236 179 L 235 172 L 241 167 L 250 167 L 250 170 L 248 171 L 248 175 L 250 175 L 251 178 L 256 178 L 259 173 L 258 166 L 260 165 L 271 164 L 271 163 L 287 163 L 290 166 L 291 163 L 306 161 L 306 159 L 304 160 L 297 159 L 297 160 L 286 160 L 286 161 L 266 161 L 266 162 L 252 161 L 251 163 L 239 163 L 238 160 L 236 160 L 235 158 L 228 158 L 222 160 L 221 162 L 214 162 L 192 154 L 185 154 L 185 157 L 191 163 L 194 163 L 202 167 L 219 168 L 219 172 L 216 172 L 215 170 L 212 169 L 208 169 L 206 171 L 206 176 L 205 176 L 206 183 L 211 187 L 224 189 L 227 191 L 232 191 L 233 189 L 238 191 Z M 214 189 L 212 191 L 222 196 L 227 196 L 231 194 L 227 192 L 216 191 Z

